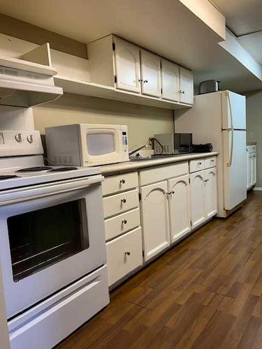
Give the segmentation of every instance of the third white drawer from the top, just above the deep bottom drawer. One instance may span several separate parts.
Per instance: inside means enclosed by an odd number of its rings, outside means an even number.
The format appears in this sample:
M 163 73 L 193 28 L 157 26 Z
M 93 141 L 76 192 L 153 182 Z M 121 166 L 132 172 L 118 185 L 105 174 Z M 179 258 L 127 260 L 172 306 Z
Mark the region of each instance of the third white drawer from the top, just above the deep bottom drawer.
M 140 225 L 139 208 L 105 219 L 105 239 L 106 241 L 113 239 L 127 230 L 138 227 L 138 225 Z

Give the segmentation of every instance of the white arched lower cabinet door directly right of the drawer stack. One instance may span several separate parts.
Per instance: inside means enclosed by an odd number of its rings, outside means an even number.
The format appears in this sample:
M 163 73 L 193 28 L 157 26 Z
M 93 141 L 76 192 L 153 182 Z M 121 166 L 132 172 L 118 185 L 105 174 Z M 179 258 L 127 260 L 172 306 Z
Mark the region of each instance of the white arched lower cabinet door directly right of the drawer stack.
M 170 245 L 167 191 L 167 181 L 141 188 L 141 224 L 145 260 L 150 260 Z

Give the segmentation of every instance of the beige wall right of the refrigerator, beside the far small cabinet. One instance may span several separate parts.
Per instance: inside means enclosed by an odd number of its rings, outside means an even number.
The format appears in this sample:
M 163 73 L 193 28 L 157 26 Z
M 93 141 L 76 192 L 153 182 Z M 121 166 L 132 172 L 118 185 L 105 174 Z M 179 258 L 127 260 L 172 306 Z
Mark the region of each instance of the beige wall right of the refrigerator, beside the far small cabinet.
M 262 187 L 262 91 L 247 96 L 247 141 L 257 142 L 257 184 Z M 253 138 L 250 138 L 253 133 Z

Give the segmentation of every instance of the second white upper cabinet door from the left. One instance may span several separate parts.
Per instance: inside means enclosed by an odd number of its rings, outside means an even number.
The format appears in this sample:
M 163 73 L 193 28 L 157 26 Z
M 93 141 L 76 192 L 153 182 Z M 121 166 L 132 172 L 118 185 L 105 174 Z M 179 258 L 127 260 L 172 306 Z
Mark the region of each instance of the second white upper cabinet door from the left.
M 156 54 L 140 50 L 142 93 L 161 96 L 161 58 Z

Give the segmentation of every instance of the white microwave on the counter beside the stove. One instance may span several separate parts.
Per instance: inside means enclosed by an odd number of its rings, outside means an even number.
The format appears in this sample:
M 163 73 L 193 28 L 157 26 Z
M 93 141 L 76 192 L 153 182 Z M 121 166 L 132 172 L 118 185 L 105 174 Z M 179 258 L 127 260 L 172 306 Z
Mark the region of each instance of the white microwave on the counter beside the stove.
M 48 161 L 96 166 L 129 161 L 127 126 L 73 124 L 45 128 Z

